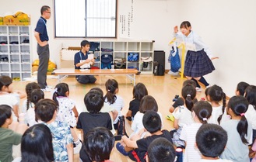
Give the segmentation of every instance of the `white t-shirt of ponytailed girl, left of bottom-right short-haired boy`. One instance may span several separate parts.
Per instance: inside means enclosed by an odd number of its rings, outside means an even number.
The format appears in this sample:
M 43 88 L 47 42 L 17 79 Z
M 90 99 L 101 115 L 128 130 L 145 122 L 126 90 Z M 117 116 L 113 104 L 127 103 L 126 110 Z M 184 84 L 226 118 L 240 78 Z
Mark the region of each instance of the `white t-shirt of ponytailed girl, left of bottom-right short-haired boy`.
M 187 143 L 183 162 L 198 162 L 201 160 L 201 153 L 198 148 L 195 147 L 195 136 L 200 126 L 202 126 L 202 123 L 195 122 L 183 126 L 181 130 L 180 139 Z

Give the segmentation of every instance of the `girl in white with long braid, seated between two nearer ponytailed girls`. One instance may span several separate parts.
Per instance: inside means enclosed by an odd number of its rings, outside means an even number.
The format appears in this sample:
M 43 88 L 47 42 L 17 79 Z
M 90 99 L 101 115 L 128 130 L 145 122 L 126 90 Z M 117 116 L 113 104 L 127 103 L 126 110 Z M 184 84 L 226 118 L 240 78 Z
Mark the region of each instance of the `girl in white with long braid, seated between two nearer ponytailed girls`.
M 226 114 L 226 94 L 223 89 L 214 84 L 207 90 L 206 98 L 212 105 L 212 116 L 208 120 L 212 124 L 220 124 L 220 122 L 230 119 L 230 115 Z M 221 102 L 223 102 L 221 104 Z

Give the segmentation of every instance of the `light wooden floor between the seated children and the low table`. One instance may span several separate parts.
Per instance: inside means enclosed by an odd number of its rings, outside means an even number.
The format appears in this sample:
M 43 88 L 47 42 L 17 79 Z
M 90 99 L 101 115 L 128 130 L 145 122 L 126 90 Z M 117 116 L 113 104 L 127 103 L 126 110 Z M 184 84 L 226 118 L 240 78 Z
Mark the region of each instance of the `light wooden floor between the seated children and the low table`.
M 83 98 L 90 88 L 98 87 L 102 88 L 104 92 L 106 92 L 104 84 L 105 81 L 109 78 L 114 78 L 117 80 L 119 84 L 119 93 L 122 98 L 124 98 L 124 109 L 122 110 L 123 115 L 128 111 L 129 102 L 132 101 L 132 88 L 133 84 L 131 81 L 125 76 L 120 75 L 106 75 L 106 76 L 96 76 L 97 81 L 96 84 L 79 84 L 75 81 L 75 78 L 66 78 L 63 82 L 67 83 L 70 90 L 70 98 L 74 99 L 76 102 L 76 108 L 79 112 L 82 112 L 85 109 Z M 172 123 L 165 118 L 166 115 L 169 115 L 169 108 L 172 104 L 172 99 L 175 95 L 181 95 L 181 86 L 185 78 L 173 77 L 169 74 L 165 74 L 165 76 L 154 76 L 153 74 L 139 74 L 136 75 L 136 83 L 142 82 L 146 85 L 146 88 L 149 91 L 149 95 L 152 95 L 158 104 L 159 111 L 163 115 L 163 129 L 173 129 Z M 25 86 L 30 81 L 17 81 L 13 84 L 13 89 L 25 91 Z M 58 84 L 57 78 L 48 78 L 47 84 L 51 86 L 55 86 Z M 204 97 L 204 88 L 202 88 L 202 92 L 198 92 L 198 98 Z M 52 98 L 51 92 L 45 92 L 45 98 Z M 128 134 L 131 133 L 131 126 L 127 122 L 126 130 Z M 124 157 L 121 153 L 119 153 L 115 146 L 110 155 L 110 160 L 115 162 L 123 161 L 128 162 L 128 157 Z M 75 161 L 79 161 L 79 154 L 75 154 Z

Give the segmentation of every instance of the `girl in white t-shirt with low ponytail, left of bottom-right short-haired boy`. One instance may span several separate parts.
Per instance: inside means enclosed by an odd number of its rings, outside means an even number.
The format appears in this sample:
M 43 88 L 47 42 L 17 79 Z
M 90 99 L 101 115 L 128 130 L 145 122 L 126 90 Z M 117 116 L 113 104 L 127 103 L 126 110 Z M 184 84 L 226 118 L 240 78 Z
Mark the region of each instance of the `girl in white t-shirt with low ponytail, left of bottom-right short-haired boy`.
M 202 124 L 207 124 L 207 120 L 212 115 L 212 105 L 209 102 L 196 102 L 192 108 L 192 116 L 195 123 L 183 126 L 180 139 L 185 141 L 186 151 L 184 162 L 198 162 L 201 160 L 201 153 L 195 148 L 195 136 Z

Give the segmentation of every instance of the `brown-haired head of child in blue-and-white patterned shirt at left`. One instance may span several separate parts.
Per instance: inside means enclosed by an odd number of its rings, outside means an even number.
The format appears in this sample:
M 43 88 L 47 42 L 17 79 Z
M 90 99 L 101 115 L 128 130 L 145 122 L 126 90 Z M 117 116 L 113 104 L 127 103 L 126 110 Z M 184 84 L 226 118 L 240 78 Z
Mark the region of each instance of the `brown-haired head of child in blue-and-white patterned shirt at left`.
M 36 120 L 40 119 L 43 122 L 49 122 L 56 117 L 58 105 L 51 99 L 41 99 L 35 105 Z

